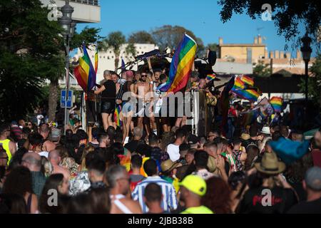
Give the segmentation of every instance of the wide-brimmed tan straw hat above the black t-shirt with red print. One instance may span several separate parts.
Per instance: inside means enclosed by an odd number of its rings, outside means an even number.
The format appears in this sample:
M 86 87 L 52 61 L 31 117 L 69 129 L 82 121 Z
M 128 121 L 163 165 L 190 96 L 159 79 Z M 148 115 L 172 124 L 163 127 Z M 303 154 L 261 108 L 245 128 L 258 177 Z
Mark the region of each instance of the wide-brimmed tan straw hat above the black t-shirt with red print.
M 285 163 L 279 162 L 275 152 L 265 152 L 261 162 L 255 163 L 255 168 L 266 174 L 278 174 L 285 170 Z

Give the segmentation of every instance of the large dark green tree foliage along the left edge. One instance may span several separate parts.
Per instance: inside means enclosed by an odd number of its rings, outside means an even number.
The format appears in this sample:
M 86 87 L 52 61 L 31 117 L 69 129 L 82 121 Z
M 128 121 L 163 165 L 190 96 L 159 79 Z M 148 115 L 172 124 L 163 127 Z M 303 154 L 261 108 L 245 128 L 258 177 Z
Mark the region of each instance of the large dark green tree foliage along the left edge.
M 61 31 L 39 0 L 0 2 L 0 118 L 23 118 L 43 97 L 41 83 L 63 69 Z M 61 64 L 62 63 L 62 64 Z

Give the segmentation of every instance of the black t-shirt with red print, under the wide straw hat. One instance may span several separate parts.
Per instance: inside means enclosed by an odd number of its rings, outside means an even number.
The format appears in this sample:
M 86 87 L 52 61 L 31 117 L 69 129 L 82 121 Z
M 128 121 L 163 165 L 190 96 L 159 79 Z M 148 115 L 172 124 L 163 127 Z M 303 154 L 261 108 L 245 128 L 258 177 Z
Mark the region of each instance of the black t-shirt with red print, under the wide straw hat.
M 283 214 L 297 203 L 295 192 L 291 189 L 274 187 L 271 190 L 271 205 L 263 206 L 267 202 L 266 187 L 253 188 L 245 192 L 238 207 L 240 214 Z

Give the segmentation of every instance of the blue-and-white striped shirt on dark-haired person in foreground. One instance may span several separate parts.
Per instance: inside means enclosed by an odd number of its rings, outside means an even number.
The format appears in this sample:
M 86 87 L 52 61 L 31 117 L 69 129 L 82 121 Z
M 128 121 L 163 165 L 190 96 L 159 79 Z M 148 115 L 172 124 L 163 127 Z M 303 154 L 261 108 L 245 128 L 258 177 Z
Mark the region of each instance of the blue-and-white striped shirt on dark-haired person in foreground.
M 161 207 L 163 208 L 164 211 L 169 211 L 170 209 L 177 208 L 176 193 L 173 185 L 161 179 L 161 177 L 158 177 L 158 176 L 147 177 L 145 180 L 138 183 L 138 185 L 135 187 L 135 189 L 131 193 L 133 199 L 138 200 L 139 204 L 141 204 L 143 213 L 148 212 L 148 207 L 146 206 L 145 202 L 143 202 L 143 195 L 144 195 L 145 187 L 149 183 L 156 183 L 157 185 L 161 186 L 162 193 L 163 193 L 163 200 L 161 202 Z

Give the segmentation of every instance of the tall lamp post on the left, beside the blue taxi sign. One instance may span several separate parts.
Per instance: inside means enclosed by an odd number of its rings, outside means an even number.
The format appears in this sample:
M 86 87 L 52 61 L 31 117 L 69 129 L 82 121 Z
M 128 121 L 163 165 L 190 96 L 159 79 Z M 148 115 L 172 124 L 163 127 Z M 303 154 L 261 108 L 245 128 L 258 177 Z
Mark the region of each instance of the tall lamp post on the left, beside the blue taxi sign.
M 64 133 L 66 135 L 66 125 L 68 124 L 68 109 L 67 109 L 67 102 L 68 102 L 68 93 L 69 93 L 69 51 L 70 51 L 70 41 L 73 37 L 73 33 L 75 31 L 76 22 L 71 19 L 73 14 L 73 7 L 69 5 L 69 1 L 65 1 L 66 4 L 61 7 L 61 12 L 63 16 L 58 19 L 58 23 L 63 28 L 62 36 L 64 40 L 65 46 L 65 67 L 66 67 L 66 99 L 65 99 L 65 121 L 64 121 Z

